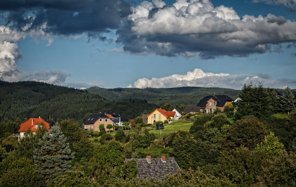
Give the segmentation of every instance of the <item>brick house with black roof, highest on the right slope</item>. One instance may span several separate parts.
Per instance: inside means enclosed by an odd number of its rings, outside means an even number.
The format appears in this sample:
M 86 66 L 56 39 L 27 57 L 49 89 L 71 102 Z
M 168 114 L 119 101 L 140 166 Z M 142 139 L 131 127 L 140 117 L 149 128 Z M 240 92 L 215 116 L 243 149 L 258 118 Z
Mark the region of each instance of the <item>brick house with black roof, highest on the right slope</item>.
M 219 107 L 221 110 L 224 109 L 227 103 L 232 103 L 233 99 L 226 95 L 216 96 L 206 96 L 205 98 L 201 99 L 200 102 L 197 104 L 197 107 L 200 107 L 200 112 L 214 112 L 214 110 Z

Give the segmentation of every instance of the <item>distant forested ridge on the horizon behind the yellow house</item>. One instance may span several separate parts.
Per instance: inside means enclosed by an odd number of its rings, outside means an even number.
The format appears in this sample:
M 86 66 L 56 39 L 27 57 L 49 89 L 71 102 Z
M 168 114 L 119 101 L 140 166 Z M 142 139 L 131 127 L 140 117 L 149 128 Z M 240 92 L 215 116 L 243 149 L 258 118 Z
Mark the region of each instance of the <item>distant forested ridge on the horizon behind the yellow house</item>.
M 197 104 L 200 99 L 208 95 L 228 95 L 235 99 L 239 90 L 230 88 L 203 88 L 203 87 L 178 87 L 178 88 L 100 88 L 93 86 L 87 88 L 93 94 L 106 97 L 110 100 L 121 99 L 146 99 L 149 103 L 157 105 L 171 104 Z

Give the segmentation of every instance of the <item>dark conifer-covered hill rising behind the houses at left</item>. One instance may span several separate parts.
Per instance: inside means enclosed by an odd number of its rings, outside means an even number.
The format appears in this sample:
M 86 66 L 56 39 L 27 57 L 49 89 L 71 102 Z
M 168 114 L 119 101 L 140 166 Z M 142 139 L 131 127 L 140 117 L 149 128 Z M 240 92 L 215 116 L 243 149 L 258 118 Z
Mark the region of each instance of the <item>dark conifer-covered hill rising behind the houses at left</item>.
M 96 112 L 116 113 L 127 119 L 141 115 L 144 110 L 158 107 L 140 99 L 112 101 L 87 91 L 53 84 L 22 81 L 9 83 L 0 80 L 0 122 L 24 121 L 31 117 L 60 121 L 73 119 L 82 122 Z

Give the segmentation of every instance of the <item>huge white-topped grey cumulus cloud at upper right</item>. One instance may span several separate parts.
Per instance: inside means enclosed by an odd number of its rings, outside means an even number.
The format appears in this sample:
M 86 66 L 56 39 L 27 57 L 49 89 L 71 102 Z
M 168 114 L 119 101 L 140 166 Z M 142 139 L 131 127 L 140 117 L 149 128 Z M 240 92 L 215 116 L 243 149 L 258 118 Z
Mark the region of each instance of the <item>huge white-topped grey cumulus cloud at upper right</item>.
M 154 2 L 154 3 L 153 3 Z M 268 14 L 244 15 L 208 0 L 143 1 L 132 8 L 118 43 L 133 54 L 198 55 L 202 59 L 281 51 L 281 43 L 296 41 L 296 22 Z

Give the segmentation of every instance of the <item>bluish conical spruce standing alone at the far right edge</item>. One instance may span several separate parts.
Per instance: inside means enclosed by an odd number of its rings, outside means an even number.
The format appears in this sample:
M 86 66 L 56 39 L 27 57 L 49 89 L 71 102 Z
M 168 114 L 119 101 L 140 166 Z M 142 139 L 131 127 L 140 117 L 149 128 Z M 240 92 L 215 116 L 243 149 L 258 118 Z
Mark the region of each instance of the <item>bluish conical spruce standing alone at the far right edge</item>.
M 295 108 L 294 103 L 295 97 L 292 94 L 291 88 L 287 86 L 281 99 L 281 109 L 289 114 Z

